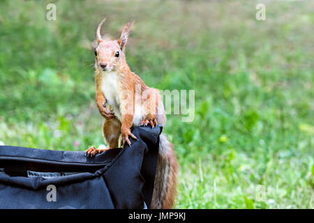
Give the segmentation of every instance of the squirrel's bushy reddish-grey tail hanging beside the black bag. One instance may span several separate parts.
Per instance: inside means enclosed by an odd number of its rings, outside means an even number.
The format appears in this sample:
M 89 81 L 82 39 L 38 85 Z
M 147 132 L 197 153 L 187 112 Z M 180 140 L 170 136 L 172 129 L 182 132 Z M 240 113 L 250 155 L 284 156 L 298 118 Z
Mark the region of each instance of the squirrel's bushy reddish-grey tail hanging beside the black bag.
M 159 155 L 156 169 L 151 208 L 172 208 L 177 196 L 178 163 L 174 155 L 174 146 L 164 134 L 160 134 Z

